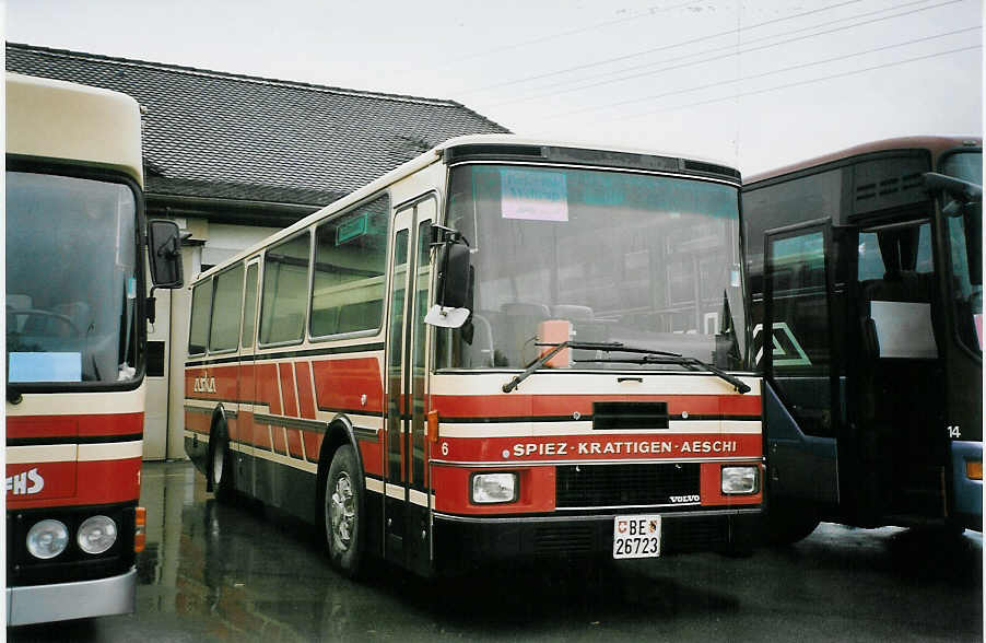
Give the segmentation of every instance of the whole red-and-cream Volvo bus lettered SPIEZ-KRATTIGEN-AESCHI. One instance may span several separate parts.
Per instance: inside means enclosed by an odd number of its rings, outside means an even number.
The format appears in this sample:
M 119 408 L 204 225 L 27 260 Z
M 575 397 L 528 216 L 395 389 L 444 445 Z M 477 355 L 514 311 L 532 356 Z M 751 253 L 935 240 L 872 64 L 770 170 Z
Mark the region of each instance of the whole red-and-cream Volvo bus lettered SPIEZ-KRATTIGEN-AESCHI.
M 186 449 L 347 574 L 735 547 L 763 470 L 739 187 L 453 139 L 198 277 Z

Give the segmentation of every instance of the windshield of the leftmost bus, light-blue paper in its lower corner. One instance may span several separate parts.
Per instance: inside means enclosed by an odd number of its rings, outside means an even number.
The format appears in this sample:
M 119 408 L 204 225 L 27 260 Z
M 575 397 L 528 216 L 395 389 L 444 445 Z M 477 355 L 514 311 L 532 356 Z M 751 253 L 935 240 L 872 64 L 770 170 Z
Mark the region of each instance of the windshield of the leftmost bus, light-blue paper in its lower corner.
M 134 225 L 126 185 L 7 173 L 9 383 L 136 377 Z

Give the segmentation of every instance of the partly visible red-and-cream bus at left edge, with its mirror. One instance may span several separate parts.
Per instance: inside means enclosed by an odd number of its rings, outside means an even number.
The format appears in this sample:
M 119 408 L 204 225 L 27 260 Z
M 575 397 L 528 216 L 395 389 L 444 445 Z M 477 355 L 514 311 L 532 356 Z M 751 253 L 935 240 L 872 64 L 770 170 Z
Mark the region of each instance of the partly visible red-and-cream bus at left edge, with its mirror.
M 8 624 L 133 610 L 149 307 L 140 109 L 7 75 Z M 178 229 L 152 222 L 159 287 Z

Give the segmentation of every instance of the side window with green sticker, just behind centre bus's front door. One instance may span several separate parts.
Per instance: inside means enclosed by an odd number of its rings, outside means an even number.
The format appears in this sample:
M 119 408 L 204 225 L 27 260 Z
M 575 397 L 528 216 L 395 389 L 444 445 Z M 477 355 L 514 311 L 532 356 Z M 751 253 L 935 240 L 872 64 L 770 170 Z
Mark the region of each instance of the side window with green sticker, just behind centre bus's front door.
M 316 230 L 312 337 L 380 327 L 389 211 L 384 195 Z

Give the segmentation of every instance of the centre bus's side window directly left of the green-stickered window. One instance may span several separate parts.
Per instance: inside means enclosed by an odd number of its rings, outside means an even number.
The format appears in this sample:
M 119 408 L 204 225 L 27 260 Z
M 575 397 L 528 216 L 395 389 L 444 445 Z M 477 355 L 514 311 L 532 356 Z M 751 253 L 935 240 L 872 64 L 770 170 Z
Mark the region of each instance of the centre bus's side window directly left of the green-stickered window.
M 310 233 L 278 244 L 263 256 L 260 343 L 300 342 L 305 330 Z

